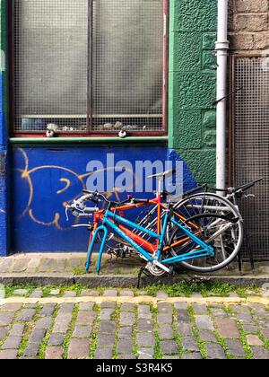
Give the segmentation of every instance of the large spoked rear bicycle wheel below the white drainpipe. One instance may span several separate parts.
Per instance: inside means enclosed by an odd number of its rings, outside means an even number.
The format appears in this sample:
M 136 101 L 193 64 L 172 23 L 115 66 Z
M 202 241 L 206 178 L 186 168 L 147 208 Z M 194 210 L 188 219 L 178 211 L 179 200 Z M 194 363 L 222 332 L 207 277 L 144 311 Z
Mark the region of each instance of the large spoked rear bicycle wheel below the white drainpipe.
M 214 249 L 214 257 L 189 259 L 181 263 L 183 267 L 195 272 L 213 272 L 236 258 L 243 241 L 243 224 L 238 209 L 229 200 L 210 193 L 195 194 L 183 199 L 175 208 L 182 224 Z M 173 256 L 197 248 L 178 227 L 169 232 L 169 245 L 175 243 L 178 246 L 170 248 Z

